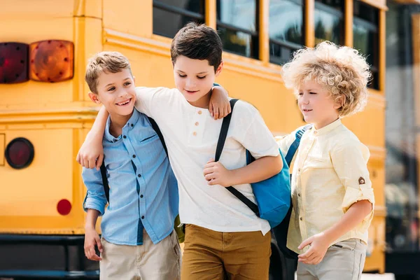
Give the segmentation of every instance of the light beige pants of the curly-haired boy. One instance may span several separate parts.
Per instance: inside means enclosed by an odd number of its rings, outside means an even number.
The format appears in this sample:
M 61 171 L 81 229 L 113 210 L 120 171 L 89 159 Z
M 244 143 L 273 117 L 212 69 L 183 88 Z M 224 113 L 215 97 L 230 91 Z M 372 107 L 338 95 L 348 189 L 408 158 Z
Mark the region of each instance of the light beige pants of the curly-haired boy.
M 365 266 L 366 245 L 348 239 L 328 248 L 318 265 L 297 264 L 297 280 L 359 280 Z

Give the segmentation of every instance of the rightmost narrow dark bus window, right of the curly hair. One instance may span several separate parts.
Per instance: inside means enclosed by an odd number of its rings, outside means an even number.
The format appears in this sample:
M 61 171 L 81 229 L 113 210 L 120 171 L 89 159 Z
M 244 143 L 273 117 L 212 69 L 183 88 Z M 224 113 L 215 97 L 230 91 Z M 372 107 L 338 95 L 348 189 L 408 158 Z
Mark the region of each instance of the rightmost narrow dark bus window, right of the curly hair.
M 372 81 L 368 86 L 379 90 L 378 10 L 361 1 L 354 1 L 353 13 L 353 47 L 367 56 L 372 71 Z

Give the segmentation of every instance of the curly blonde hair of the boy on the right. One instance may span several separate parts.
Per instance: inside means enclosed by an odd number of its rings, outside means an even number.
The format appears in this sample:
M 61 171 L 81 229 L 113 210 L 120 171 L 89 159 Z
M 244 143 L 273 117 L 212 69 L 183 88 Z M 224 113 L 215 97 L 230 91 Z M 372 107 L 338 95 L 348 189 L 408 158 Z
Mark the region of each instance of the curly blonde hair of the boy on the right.
M 325 41 L 315 48 L 303 48 L 283 65 L 281 76 L 288 88 L 297 90 L 307 80 L 314 80 L 328 90 L 336 102 L 340 117 L 362 111 L 367 103 L 369 64 L 357 50 Z M 344 97 L 344 99 L 343 99 Z

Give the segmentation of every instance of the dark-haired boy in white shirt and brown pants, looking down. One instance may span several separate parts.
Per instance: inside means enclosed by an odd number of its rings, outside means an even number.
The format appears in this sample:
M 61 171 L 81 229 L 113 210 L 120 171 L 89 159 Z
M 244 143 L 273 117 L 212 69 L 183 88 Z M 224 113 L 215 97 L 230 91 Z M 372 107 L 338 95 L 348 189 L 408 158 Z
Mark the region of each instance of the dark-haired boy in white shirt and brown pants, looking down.
M 195 23 L 183 27 L 171 45 L 176 89 L 138 87 L 136 108 L 158 123 L 179 183 L 179 213 L 186 224 L 181 279 L 268 279 L 269 223 L 225 187 L 235 186 L 255 202 L 250 183 L 274 176 L 283 164 L 260 113 L 241 101 L 221 159 L 214 162 L 222 120 L 211 118 L 208 107 L 211 86 L 223 68 L 222 48 L 214 29 Z M 106 115 L 99 113 L 96 130 L 104 127 Z M 94 138 L 90 143 L 100 146 L 102 132 Z M 86 158 L 99 156 L 84 150 Z M 256 159 L 250 165 L 246 150 Z

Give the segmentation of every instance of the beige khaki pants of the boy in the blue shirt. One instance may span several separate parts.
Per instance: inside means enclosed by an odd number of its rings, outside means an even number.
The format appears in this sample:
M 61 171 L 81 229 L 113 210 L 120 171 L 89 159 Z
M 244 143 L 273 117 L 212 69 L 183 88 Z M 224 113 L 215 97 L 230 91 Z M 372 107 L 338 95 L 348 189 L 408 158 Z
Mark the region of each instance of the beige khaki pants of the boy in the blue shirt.
M 143 245 L 116 245 L 102 238 L 102 246 L 101 280 L 179 280 L 181 248 L 175 232 L 158 244 L 144 230 Z

